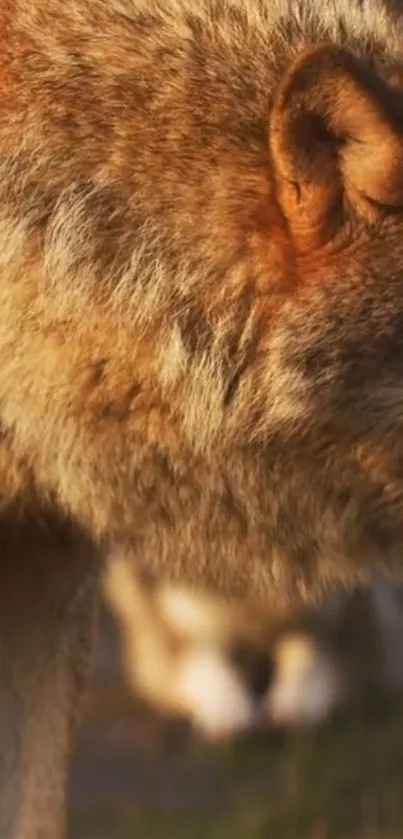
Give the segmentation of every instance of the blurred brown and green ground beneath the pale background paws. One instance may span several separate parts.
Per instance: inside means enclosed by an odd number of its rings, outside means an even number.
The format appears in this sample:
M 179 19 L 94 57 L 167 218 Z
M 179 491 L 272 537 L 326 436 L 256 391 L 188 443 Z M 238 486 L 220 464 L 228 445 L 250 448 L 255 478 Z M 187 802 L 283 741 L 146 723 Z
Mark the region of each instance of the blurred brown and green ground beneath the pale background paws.
M 348 709 L 315 734 L 208 747 L 133 702 L 105 666 L 110 637 L 77 749 L 69 839 L 402 839 L 403 700 Z

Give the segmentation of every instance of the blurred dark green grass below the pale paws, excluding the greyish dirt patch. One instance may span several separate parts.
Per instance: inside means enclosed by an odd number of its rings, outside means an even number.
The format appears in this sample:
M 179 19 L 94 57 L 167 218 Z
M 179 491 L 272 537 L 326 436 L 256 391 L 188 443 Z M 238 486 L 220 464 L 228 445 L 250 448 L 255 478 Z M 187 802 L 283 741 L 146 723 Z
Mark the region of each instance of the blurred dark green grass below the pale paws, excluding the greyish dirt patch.
M 165 760 L 172 777 L 175 755 Z M 206 803 L 89 805 L 71 839 L 403 837 L 403 707 L 356 710 L 315 735 L 193 746 L 186 760 L 216 789 Z

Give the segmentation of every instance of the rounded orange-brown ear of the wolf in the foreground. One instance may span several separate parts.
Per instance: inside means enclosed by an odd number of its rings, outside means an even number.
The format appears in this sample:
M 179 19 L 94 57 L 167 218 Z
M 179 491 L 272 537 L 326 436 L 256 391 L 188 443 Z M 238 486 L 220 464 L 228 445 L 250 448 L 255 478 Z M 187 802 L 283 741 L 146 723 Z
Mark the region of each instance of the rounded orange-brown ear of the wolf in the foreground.
M 279 201 L 297 247 L 343 224 L 403 208 L 403 130 L 396 93 L 349 52 L 320 47 L 291 67 L 275 100 L 270 146 Z

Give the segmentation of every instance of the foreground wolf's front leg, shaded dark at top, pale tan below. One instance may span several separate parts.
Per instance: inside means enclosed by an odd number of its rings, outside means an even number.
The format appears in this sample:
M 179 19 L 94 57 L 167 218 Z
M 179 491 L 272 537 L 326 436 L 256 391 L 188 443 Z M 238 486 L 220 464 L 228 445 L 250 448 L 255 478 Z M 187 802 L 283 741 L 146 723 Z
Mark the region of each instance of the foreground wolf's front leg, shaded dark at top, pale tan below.
M 0 524 L 0 839 L 65 835 L 99 570 L 59 524 Z

